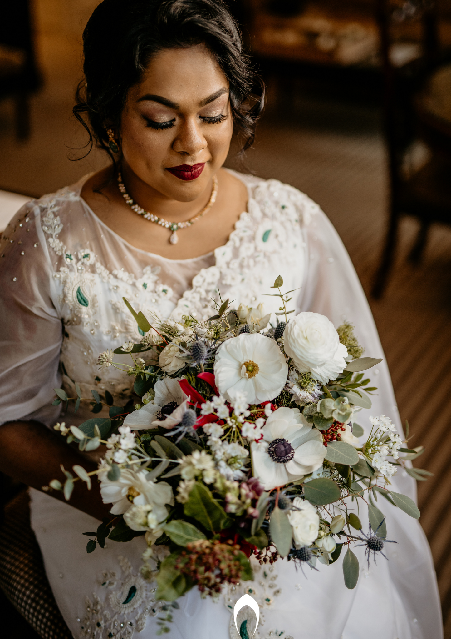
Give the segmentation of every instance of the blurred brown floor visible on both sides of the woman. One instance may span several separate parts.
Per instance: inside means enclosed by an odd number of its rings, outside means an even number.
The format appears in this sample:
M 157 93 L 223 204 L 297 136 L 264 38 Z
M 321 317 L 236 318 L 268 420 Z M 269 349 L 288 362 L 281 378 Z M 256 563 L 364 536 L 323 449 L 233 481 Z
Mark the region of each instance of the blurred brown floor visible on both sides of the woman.
M 80 75 L 79 39 L 38 42 L 46 84 L 32 104 L 33 135 L 15 141 L 11 104 L 0 104 L 0 188 L 42 194 L 103 166 L 99 153 L 70 162 L 85 139 L 70 119 Z M 270 96 L 271 97 L 271 96 Z M 262 121 L 249 165 L 306 192 L 329 215 L 369 296 L 385 229 L 385 153 L 377 109 L 291 98 L 272 105 Z M 67 146 L 64 146 L 64 145 Z M 232 160 L 230 161 L 230 166 Z M 421 523 L 431 544 L 451 637 L 450 262 L 451 233 L 433 229 L 424 261 L 406 262 L 417 227 L 403 222 L 397 263 L 382 300 L 369 298 L 387 355 L 401 417 L 411 445 L 424 444 L 418 466 L 434 473 L 418 486 Z

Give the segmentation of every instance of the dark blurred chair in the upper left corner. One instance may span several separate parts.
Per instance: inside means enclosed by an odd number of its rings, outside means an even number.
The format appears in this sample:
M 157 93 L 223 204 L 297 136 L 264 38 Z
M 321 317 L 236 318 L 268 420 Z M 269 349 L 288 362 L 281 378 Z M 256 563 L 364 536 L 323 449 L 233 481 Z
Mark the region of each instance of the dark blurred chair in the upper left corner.
M 29 0 L 3 3 L 0 20 L 0 99 L 15 102 L 17 139 L 30 134 L 29 96 L 41 85 L 34 57 Z

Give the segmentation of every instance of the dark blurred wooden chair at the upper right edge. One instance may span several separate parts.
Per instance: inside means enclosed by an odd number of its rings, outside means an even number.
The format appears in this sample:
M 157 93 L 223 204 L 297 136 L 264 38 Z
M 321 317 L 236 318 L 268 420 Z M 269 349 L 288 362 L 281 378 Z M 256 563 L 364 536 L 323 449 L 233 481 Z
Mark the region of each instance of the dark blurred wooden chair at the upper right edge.
M 418 263 L 434 222 L 451 224 L 451 64 L 440 49 L 438 7 L 431 0 L 377 0 L 383 63 L 383 118 L 390 194 L 388 229 L 373 295 L 383 294 L 394 261 L 399 220 L 420 223 L 409 258 Z M 394 39 L 420 23 L 420 56 L 399 64 Z M 398 33 L 396 33 L 398 31 Z

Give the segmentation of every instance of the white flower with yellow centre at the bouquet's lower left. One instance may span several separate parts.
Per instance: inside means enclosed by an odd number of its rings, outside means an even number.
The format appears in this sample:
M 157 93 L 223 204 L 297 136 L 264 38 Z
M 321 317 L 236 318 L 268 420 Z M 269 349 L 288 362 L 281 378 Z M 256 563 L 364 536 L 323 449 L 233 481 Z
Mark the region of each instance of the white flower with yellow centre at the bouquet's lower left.
M 113 504 L 111 514 L 127 512 L 131 505 L 164 506 L 174 505 L 174 495 L 170 484 L 160 481 L 158 484 L 147 479 L 147 472 L 135 472 L 129 468 L 121 470 L 121 477 L 115 481 L 103 476 L 100 482 L 100 494 L 104 504 Z

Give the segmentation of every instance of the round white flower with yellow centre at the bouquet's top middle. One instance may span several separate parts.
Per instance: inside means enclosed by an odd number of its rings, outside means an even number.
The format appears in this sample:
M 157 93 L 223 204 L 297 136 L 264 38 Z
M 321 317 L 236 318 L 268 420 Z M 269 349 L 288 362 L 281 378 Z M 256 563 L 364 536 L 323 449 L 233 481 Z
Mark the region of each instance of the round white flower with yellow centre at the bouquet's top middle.
M 216 354 L 214 379 L 219 392 L 231 401 L 247 393 L 249 404 L 277 397 L 286 383 L 288 365 L 274 340 L 244 333 L 226 340 Z

